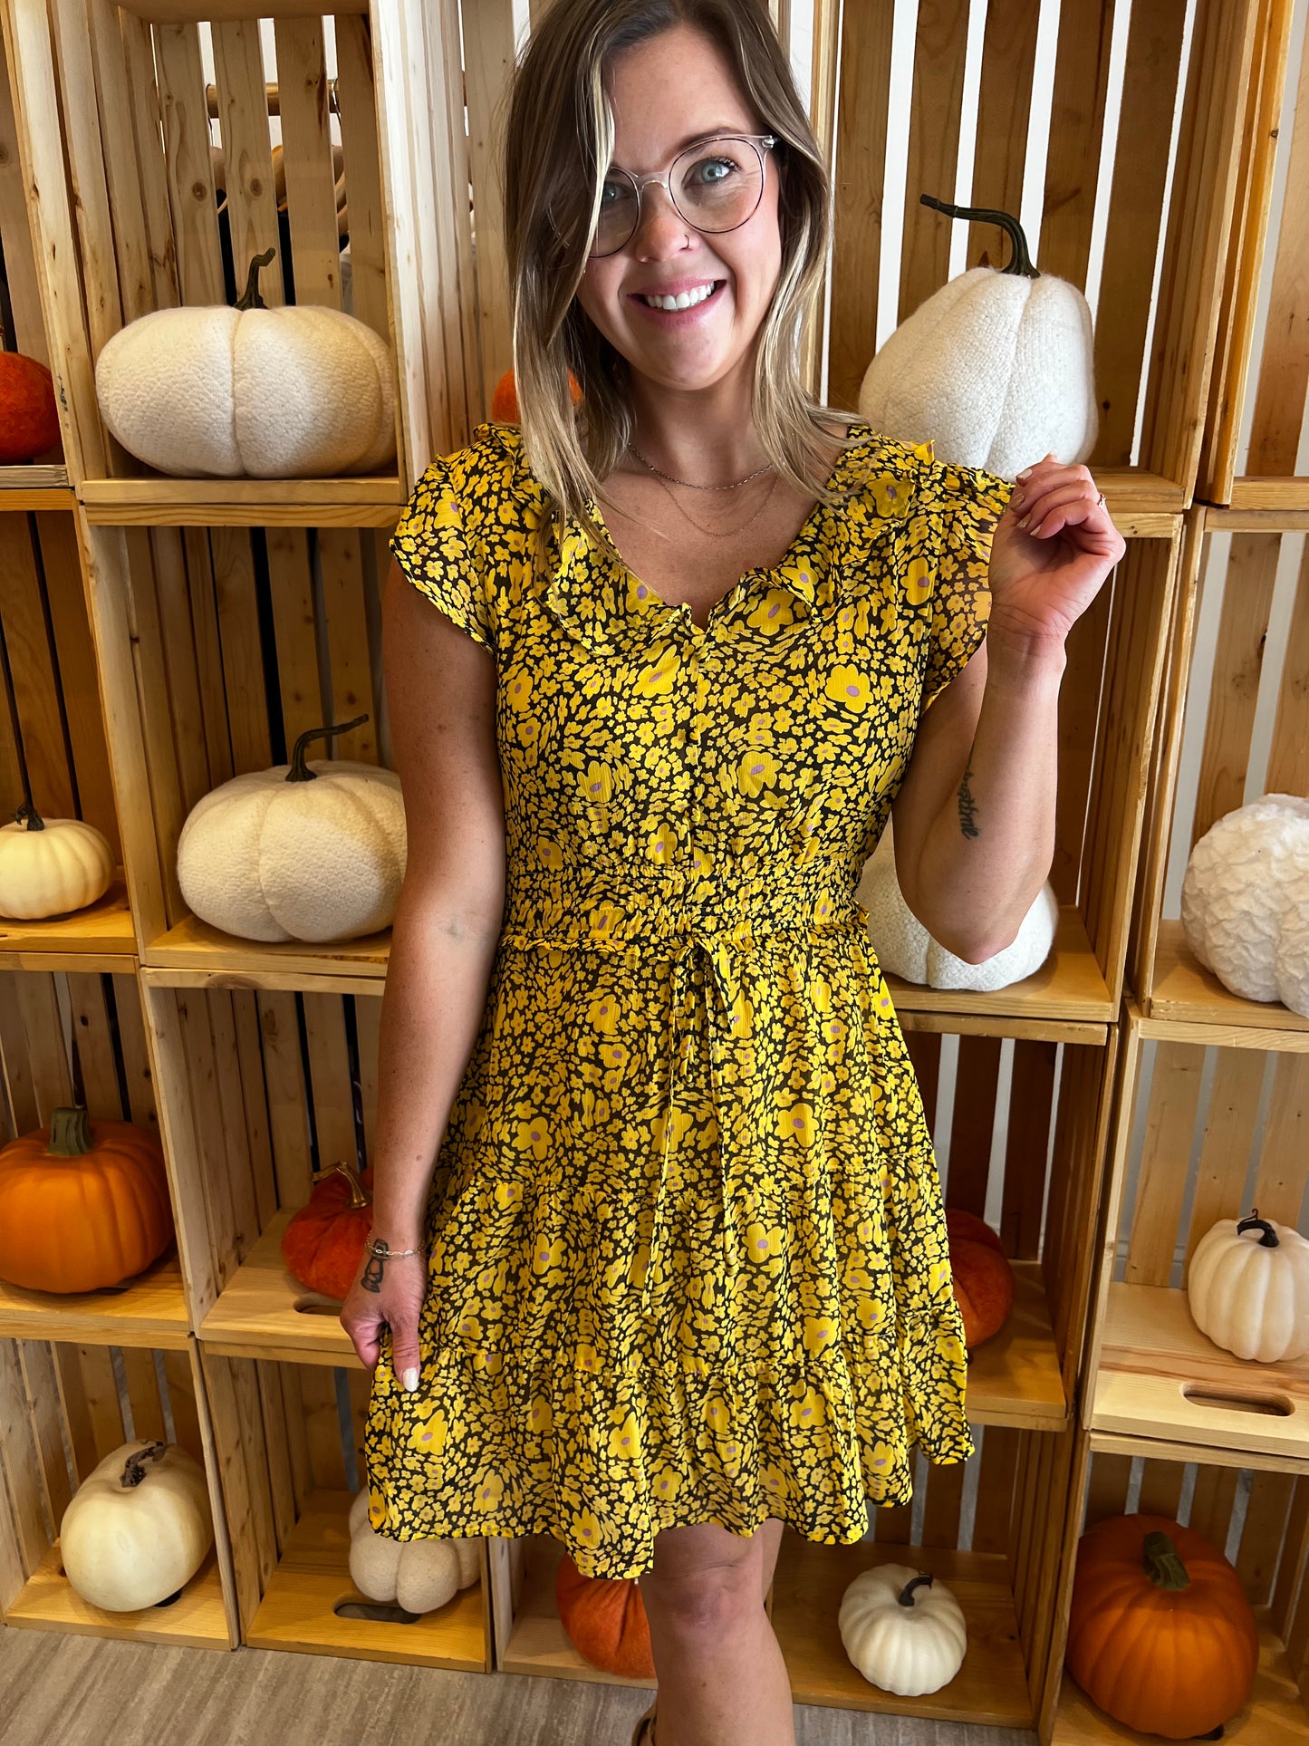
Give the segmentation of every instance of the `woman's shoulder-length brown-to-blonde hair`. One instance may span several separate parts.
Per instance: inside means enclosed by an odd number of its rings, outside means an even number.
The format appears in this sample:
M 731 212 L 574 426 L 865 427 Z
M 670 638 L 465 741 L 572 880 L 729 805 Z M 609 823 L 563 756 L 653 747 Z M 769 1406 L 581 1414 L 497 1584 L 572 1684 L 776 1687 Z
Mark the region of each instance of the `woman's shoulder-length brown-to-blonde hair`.
M 623 49 L 689 24 L 724 54 L 761 124 L 778 136 L 782 267 L 756 351 L 752 414 L 764 454 L 822 503 L 826 450 L 852 414 L 813 400 L 799 375 L 799 328 L 817 299 L 829 239 L 829 178 L 761 0 L 555 0 L 517 66 L 501 164 L 524 457 L 553 499 L 557 526 L 599 529 L 586 499 L 635 435 L 628 365 L 576 299 L 614 143 L 606 75 Z M 569 372 L 581 388 L 574 410 Z

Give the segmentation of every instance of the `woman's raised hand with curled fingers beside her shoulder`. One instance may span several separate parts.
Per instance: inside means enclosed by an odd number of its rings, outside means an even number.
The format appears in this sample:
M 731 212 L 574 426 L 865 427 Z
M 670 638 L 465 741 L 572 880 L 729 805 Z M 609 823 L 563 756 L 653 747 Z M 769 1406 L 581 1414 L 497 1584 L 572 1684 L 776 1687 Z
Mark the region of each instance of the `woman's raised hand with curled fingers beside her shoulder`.
M 1063 643 L 1127 543 L 1080 461 L 1045 456 L 1025 471 L 991 540 L 986 636 Z

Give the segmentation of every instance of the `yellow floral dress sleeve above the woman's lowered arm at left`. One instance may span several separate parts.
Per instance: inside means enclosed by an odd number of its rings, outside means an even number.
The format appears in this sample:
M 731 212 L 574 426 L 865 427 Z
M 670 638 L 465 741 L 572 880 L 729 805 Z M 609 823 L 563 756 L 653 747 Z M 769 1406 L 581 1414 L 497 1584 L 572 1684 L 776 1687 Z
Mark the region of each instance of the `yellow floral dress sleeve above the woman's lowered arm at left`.
M 461 459 L 463 452 L 431 463 L 391 534 L 391 553 L 421 594 L 496 655 L 492 576 L 482 541 L 468 529 L 471 475 L 457 464 Z

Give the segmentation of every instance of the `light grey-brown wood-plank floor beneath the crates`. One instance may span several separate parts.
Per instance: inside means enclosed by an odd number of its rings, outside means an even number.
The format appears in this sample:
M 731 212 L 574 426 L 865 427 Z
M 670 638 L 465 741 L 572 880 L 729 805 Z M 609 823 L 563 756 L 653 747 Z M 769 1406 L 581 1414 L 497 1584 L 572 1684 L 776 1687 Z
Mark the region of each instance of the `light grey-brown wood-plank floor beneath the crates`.
M 644 1708 L 642 1692 L 574 1680 L 0 1627 L 0 1746 L 627 1746 Z M 1035 1746 L 1011 1729 L 803 1708 L 796 1741 Z

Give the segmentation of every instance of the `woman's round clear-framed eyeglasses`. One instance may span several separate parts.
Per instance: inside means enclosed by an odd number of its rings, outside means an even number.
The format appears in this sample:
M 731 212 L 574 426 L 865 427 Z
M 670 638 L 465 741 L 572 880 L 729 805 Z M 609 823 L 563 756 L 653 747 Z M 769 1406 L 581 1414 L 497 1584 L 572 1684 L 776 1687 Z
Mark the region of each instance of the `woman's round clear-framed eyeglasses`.
M 764 152 L 775 145 L 773 133 L 716 134 L 679 152 L 667 176 L 634 176 L 613 164 L 600 189 L 592 260 L 632 241 L 641 223 L 641 196 L 653 182 L 693 230 L 717 236 L 744 225 L 763 199 Z

